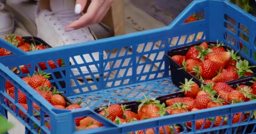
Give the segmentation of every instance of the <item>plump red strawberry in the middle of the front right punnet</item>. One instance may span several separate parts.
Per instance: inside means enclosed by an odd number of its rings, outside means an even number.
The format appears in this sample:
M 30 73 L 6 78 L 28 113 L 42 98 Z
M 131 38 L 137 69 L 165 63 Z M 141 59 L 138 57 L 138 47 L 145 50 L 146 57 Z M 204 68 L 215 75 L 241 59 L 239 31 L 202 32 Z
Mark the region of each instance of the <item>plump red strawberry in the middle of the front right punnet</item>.
M 205 109 L 207 108 L 207 104 L 210 102 L 211 96 L 207 94 L 203 94 L 195 98 L 195 101 L 193 103 L 194 108 L 197 109 Z

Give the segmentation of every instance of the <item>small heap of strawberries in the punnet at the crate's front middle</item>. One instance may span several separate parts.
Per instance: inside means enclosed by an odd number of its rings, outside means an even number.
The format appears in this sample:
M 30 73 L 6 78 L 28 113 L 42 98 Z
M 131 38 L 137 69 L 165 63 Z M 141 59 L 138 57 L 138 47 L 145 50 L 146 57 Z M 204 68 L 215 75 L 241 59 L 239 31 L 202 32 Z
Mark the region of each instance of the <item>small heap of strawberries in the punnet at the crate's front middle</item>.
M 160 105 L 160 101 L 155 100 L 155 98 L 151 98 L 148 100 L 145 97 L 144 100 L 138 102 L 140 102 L 138 111 L 131 111 L 131 109 L 126 109 L 126 106 L 122 104 L 113 104 L 109 105 L 108 107 L 100 108 L 99 114 L 101 116 L 104 116 L 106 119 L 111 120 L 115 124 L 125 124 L 132 121 L 157 118 L 166 115 L 165 104 L 163 103 L 162 105 Z M 103 124 L 91 118 L 90 116 L 87 116 L 84 119 L 80 120 L 80 124 L 79 126 L 77 126 L 77 130 L 87 129 L 88 126 L 94 128 L 103 126 Z M 179 133 L 179 127 L 176 125 L 174 127 L 175 130 L 172 126 L 160 127 L 160 134 L 166 134 L 165 131 L 167 132 L 167 134 Z M 146 129 L 145 132 L 146 134 L 155 134 L 153 129 Z M 134 133 L 132 132 L 130 134 Z M 136 131 L 136 134 L 144 134 L 144 131 Z

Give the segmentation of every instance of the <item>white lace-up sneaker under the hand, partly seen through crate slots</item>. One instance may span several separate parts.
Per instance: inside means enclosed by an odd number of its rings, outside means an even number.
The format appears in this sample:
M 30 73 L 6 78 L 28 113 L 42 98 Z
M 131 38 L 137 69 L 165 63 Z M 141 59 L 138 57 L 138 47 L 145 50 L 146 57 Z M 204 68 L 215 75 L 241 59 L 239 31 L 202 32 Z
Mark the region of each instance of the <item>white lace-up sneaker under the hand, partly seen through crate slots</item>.
M 52 47 L 64 46 L 69 44 L 93 41 L 94 38 L 87 27 L 80 28 L 73 31 L 65 32 L 64 28 L 72 21 L 80 18 L 80 15 L 75 14 L 75 1 L 74 0 L 50 0 L 51 11 L 39 10 L 39 6 L 36 8 L 36 25 L 37 36 L 43 39 Z M 99 61 L 99 52 L 92 53 L 94 61 Z M 93 62 L 93 59 L 89 54 L 83 55 L 85 62 Z M 107 58 L 107 54 L 104 52 L 104 59 Z M 83 64 L 83 59 L 80 56 L 76 56 L 75 60 L 77 64 Z M 72 65 L 75 62 L 70 58 Z M 99 72 L 95 65 L 90 65 L 91 72 Z M 86 67 L 80 67 L 83 74 L 87 74 L 88 69 Z M 106 65 L 105 70 L 109 70 L 109 64 Z M 74 75 L 80 75 L 77 68 L 72 69 Z M 108 73 L 104 73 L 106 76 Z M 94 75 L 99 78 L 99 75 Z M 91 79 L 91 75 L 85 76 L 86 79 Z M 77 79 L 82 79 L 79 77 Z

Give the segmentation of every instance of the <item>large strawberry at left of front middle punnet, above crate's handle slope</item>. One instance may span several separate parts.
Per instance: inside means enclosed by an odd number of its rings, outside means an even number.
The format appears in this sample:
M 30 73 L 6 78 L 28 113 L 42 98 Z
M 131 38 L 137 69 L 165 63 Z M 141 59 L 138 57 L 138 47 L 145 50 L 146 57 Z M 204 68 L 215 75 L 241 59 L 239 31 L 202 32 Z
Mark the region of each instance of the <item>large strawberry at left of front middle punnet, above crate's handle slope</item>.
M 105 109 L 105 110 L 104 110 Z M 102 116 L 106 116 L 107 119 L 111 119 L 115 121 L 115 117 L 123 118 L 123 109 L 122 106 L 119 104 L 113 104 L 109 107 L 101 108 L 101 112 L 99 113 Z M 107 113 L 105 113 L 107 111 Z

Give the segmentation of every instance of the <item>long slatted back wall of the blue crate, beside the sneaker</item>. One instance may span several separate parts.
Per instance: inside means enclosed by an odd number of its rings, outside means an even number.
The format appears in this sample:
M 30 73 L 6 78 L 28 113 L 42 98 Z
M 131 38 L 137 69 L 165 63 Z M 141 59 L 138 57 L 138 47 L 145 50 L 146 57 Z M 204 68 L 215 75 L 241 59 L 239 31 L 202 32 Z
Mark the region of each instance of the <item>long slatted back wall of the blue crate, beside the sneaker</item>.
M 198 7 L 196 9 L 198 9 Z M 204 10 L 204 8 L 201 10 Z M 209 31 L 207 19 L 190 24 L 179 24 L 175 27 L 167 26 L 164 28 L 131 33 L 109 39 L 101 39 L 92 42 L 40 50 L 38 52 L 24 53 L 16 50 L 17 53 L 14 55 L 1 57 L 0 62 L 9 68 L 21 65 L 30 65 L 32 67 L 30 72 L 34 72 L 35 66 L 39 68 L 39 62 L 46 63 L 49 60 L 54 60 L 56 63 L 56 59 L 63 59 L 66 64 L 65 67 L 58 67 L 56 69 L 48 69 L 44 71 L 48 73 L 60 72 L 62 78 L 57 79 L 56 77 L 53 77 L 51 82 L 55 82 L 59 90 L 63 91 L 65 95 L 82 95 L 85 93 L 104 91 L 106 89 L 118 88 L 120 86 L 169 77 L 169 66 L 167 60 L 164 58 L 164 53 L 172 48 L 199 42 L 195 41 L 195 38 L 193 41 L 188 41 L 190 35 L 197 35 L 199 32 L 204 33 L 201 41 L 208 39 L 207 34 Z M 180 40 L 181 36 L 186 36 L 184 42 Z M 178 40 L 176 42 L 174 41 L 174 44 L 171 44 L 175 38 L 178 38 Z M 160 42 L 160 44 L 158 44 L 160 47 L 155 47 L 156 42 Z M 7 43 L 2 43 L 1 47 L 9 49 L 11 52 L 12 49 L 15 49 Z M 139 48 L 142 50 L 138 51 Z M 111 52 L 115 49 L 117 49 L 117 54 L 116 56 L 113 56 Z M 127 50 L 125 50 L 125 54 L 122 55 L 121 50 L 123 51 L 123 49 Z M 129 49 L 131 51 L 128 51 Z M 103 51 L 109 51 L 110 54 L 108 54 L 107 59 L 103 58 Z M 98 61 L 75 65 L 69 64 L 69 60 L 74 60 L 74 57 L 76 56 L 81 57 L 85 62 L 86 59 L 83 58 L 83 54 L 96 52 L 99 52 Z M 13 53 L 15 52 L 13 51 Z M 146 61 L 143 62 L 142 58 L 146 59 Z M 128 60 L 129 64 L 123 64 L 125 60 Z M 119 62 L 120 64 L 115 64 L 116 62 Z M 109 70 L 105 69 L 107 63 L 111 64 L 111 68 Z M 154 64 L 159 64 L 159 67 L 157 67 L 157 69 L 153 69 Z M 95 65 L 98 68 L 98 71 L 90 72 L 88 74 L 82 74 L 81 72 L 81 75 L 74 75 L 71 71 L 71 69 L 74 68 L 78 70 L 80 67 L 89 68 L 90 65 Z M 151 67 L 146 68 L 146 65 L 151 65 Z M 141 67 L 141 71 L 137 70 L 139 67 Z M 66 76 L 62 72 L 63 70 L 66 71 Z M 124 73 L 121 72 L 121 70 Z M 131 74 L 128 72 L 131 72 Z M 102 74 L 104 73 L 108 73 L 108 75 L 103 77 Z M 110 78 L 110 73 L 115 73 L 115 77 Z M 163 75 L 160 75 L 160 73 L 163 73 Z M 26 75 L 27 74 L 21 74 L 19 76 L 24 77 Z M 92 82 L 85 79 L 88 75 L 92 77 Z M 100 75 L 100 77 L 99 79 L 96 79 L 93 75 Z M 85 84 L 79 84 L 77 81 L 78 77 L 83 77 Z M 70 80 L 73 80 L 77 86 L 71 87 Z M 65 81 L 66 88 L 62 88 L 60 86 L 60 81 Z M 92 86 L 95 86 L 96 89 L 91 88 Z M 74 90 L 76 90 L 76 93 Z

